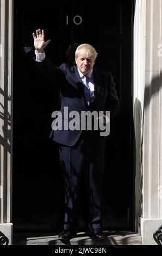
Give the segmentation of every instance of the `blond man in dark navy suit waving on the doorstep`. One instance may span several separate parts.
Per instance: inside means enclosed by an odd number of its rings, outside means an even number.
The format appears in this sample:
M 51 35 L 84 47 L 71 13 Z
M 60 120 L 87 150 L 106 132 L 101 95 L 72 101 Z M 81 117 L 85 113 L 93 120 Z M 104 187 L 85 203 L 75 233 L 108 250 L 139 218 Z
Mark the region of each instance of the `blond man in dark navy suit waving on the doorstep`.
M 89 44 L 77 47 L 76 66 L 70 68 L 67 64 L 62 64 L 58 68 L 44 53 L 44 47 L 50 42 L 44 41 L 44 31 L 37 29 L 33 38 L 38 67 L 60 89 L 61 109 L 57 115 L 53 115 L 57 118 L 50 134 L 50 138 L 59 146 L 65 189 L 64 230 L 59 239 L 69 240 L 76 236 L 82 182 L 86 186 L 89 206 L 87 218 L 91 235 L 94 239 L 104 239 L 101 229 L 101 186 L 105 136 L 101 135 L 100 129 L 96 129 L 95 121 L 97 119 L 106 126 L 119 111 L 113 77 L 108 72 L 94 69 L 98 53 Z M 92 129 L 82 129 L 82 113 L 87 111 L 99 114 L 98 117 L 94 116 Z M 110 120 L 105 111 L 110 111 Z M 72 116 L 74 112 L 78 114 L 75 121 Z M 77 123 L 77 128 L 74 123 Z M 58 124 L 61 124 L 60 129 Z

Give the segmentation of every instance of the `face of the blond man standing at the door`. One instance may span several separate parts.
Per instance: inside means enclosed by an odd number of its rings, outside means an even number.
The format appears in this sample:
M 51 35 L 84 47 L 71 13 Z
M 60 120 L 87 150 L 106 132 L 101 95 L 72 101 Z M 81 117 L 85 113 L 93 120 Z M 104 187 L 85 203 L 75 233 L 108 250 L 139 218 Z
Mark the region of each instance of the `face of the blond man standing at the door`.
M 88 57 L 85 53 L 80 53 L 77 58 L 75 58 L 75 63 L 77 68 L 82 72 L 83 75 L 87 75 L 90 70 L 93 69 L 95 59 Z

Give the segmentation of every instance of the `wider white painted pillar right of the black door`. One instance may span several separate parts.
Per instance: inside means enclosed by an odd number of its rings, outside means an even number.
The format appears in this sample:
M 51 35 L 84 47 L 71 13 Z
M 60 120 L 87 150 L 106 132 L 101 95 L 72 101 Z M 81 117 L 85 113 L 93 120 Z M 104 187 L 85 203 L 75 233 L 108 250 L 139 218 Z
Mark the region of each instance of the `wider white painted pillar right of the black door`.
M 141 235 L 143 245 L 156 244 L 153 240 L 153 233 L 162 224 L 162 84 L 161 57 L 158 54 L 162 34 L 161 14 L 161 0 L 138 0 L 136 3 L 134 23 L 134 122 L 137 139 L 136 170 L 137 178 L 140 178 L 140 182 L 137 179 L 137 196 L 138 192 L 140 193 L 138 186 L 142 188 Z M 135 101 L 138 102 L 137 106 Z

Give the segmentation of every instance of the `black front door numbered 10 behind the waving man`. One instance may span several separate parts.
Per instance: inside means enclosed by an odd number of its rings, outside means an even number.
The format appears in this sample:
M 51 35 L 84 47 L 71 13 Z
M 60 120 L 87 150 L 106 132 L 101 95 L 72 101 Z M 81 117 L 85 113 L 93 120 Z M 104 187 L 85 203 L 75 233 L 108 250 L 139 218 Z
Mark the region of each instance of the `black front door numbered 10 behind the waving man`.
M 29 227 L 30 223 L 31 229 L 36 224 L 47 229 L 58 228 L 63 220 L 59 156 L 56 145 L 48 138 L 51 112 L 59 107 L 59 93 L 51 94 L 51 85 L 33 60 L 32 33 L 36 28 L 44 29 L 46 40 L 51 39 L 46 54 L 56 65 L 63 62 L 71 65 L 75 46 L 87 42 L 99 53 L 96 68 L 110 71 L 114 77 L 121 109 L 107 137 L 103 227 L 132 227 L 131 2 L 14 1 L 13 222 L 16 227 L 27 227 L 24 223 Z

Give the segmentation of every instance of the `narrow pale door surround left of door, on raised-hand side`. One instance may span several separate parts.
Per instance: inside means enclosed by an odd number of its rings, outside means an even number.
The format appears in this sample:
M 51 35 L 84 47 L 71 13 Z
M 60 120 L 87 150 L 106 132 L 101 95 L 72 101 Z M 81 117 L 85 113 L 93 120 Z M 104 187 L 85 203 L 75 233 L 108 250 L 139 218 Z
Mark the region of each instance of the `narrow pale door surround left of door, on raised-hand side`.
M 12 0 L 0 0 L 0 231 L 12 243 Z

